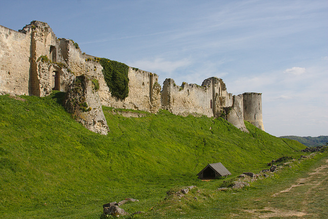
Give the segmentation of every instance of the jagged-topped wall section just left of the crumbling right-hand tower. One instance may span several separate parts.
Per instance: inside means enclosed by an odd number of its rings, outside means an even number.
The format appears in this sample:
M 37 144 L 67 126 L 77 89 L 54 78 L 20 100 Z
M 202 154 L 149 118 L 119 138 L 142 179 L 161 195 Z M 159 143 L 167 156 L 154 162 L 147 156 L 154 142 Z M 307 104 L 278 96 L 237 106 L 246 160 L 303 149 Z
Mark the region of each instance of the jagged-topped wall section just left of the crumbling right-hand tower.
M 162 109 L 167 109 L 173 114 L 187 116 L 207 115 L 213 116 L 212 85 L 202 87 L 195 84 L 182 83 L 175 85 L 173 79 L 168 78 L 163 83 L 161 92 Z

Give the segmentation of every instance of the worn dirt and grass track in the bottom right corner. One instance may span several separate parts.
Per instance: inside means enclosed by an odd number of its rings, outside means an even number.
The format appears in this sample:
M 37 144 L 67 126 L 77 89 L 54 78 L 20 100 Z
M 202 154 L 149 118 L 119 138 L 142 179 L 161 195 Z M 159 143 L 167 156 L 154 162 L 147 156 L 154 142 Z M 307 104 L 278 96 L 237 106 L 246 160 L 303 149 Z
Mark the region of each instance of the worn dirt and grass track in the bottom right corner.
M 255 200 L 261 209 L 250 206 L 243 211 L 252 218 L 328 218 L 328 159 L 280 188 Z

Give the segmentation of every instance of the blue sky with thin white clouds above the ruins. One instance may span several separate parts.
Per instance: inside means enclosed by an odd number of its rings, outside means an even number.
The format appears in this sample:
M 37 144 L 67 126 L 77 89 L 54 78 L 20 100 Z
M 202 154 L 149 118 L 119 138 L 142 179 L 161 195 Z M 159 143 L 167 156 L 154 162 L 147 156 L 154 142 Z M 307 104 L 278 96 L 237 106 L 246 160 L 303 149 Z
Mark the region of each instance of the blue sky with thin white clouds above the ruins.
M 265 131 L 328 135 L 328 1 L 5 1 L 0 25 L 47 22 L 83 52 L 165 78 L 262 93 Z

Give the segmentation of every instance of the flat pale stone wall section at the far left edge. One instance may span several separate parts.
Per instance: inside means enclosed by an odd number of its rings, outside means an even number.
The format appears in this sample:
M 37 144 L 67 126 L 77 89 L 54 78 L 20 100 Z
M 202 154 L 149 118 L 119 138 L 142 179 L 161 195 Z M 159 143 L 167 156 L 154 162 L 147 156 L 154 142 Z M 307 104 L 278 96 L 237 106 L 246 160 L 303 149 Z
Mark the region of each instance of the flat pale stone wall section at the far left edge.
M 30 35 L 0 26 L 0 94 L 29 94 Z

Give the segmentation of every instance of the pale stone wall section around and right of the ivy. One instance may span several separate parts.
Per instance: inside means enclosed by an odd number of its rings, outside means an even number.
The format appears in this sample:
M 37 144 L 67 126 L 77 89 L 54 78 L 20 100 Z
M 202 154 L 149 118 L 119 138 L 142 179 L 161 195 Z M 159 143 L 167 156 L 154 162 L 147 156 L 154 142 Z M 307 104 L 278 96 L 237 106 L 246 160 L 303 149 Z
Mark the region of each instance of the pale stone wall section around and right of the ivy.
M 101 74 L 102 75 L 102 74 Z M 129 67 L 129 96 L 124 100 L 110 94 L 104 76 L 99 80 L 99 96 L 104 106 L 157 112 L 160 107 L 158 76 Z

